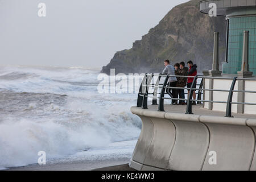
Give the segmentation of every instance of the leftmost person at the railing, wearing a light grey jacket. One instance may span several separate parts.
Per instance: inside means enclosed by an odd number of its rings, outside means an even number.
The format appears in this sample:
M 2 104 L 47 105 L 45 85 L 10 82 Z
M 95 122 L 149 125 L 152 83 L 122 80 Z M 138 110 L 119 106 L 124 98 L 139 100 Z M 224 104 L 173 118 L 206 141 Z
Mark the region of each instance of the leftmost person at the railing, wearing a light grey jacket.
M 163 70 L 163 75 L 175 75 L 175 70 L 174 67 L 170 64 L 169 60 L 165 60 L 164 61 L 164 70 Z M 168 87 L 175 87 L 177 84 L 177 78 L 176 77 L 169 77 L 168 79 Z M 171 97 L 171 98 L 177 98 L 177 91 L 176 89 L 170 89 L 167 88 L 167 94 Z M 172 100 L 172 105 L 176 105 L 176 101 Z

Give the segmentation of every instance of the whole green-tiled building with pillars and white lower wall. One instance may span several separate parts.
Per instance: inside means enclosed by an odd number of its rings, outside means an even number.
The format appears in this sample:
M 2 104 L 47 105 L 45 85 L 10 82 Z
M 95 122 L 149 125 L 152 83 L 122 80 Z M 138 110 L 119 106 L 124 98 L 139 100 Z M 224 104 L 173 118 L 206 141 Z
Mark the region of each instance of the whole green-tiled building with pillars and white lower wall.
M 255 0 L 218 0 L 201 1 L 201 13 L 212 13 L 211 3 L 216 4 L 217 16 L 225 16 L 227 21 L 226 60 L 222 63 L 222 71 L 218 65 L 218 32 L 214 34 L 213 69 L 204 71 L 204 75 L 212 77 L 238 77 L 253 80 L 239 80 L 235 90 L 256 90 L 256 1 Z M 222 30 L 219 30 L 222 31 Z M 221 60 L 223 61 L 223 60 Z M 228 89 L 231 80 L 205 79 L 206 89 Z M 226 101 L 228 93 L 204 92 L 204 100 Z M 253 93 L 234 93 L 233 102 L 256 102 Z M 225 104 L 207 103 L 204 107 L 209 110 L 223 111 Z M 234 113 L 255 114 L 254 105 L 234 105 Z

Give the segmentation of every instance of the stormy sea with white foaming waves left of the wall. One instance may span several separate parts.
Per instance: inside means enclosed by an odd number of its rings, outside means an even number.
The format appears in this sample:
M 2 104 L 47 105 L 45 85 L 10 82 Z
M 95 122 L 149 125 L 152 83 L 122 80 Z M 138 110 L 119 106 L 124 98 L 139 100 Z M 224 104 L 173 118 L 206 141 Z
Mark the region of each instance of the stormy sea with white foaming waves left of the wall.
M 128 163 L 142 127 L 130 112 L 137 93 L 99 93 L 99 74 L 0 67 L 0 169 L 38 165 L 39 151 L 46 152 L 47 165 Z

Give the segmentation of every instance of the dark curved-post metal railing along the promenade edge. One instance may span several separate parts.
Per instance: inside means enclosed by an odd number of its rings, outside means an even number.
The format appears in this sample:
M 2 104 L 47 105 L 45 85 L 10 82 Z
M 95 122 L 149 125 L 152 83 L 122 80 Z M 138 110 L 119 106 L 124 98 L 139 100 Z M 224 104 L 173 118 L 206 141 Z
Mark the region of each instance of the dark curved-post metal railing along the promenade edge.
M 156 77 L 156 83 L 152 84 L 152 79 Z M 160 84 L 161 78 L 165 77 L 163 84 Z M 191 88 L 177 88 L 177 87 L 170 87 L 167 86 L 168 80 L 170 77 L 177 77 L 177 78 L 193 78 L 193 82 L 191 85 Z M 197 84 L 197 79 L 201 78 L 201 83 Z M 223 89 L 204 89 L 203 83 L 204 79 L 218 79 L 218 80 L 233 80 L 232 84 L 230 86 L 229 90 L 223 90 Z M 146 73 L 142 80 L 141 87 L 139 89 L 138 94 L 138 101 L 137 101 L 137 107 L 142 107 L 143 109 L 148 109 L 148 98 L 152 98 L 152 105 L 158 105 L 158 111 L 164 111 L 164 100 L 175 100 L 175 101 L 187 101 L 187 110 L 185 114 L 193 114 L 192 113 L 192 102 L 197 102 L 197 104 L 202 104 L 205 102 L 209 103 L 220 103 L 220 104 L 226 104 L 226 117 L 233 117 L 232 116 L 232 105 L 256 105 L 256 103 L 248 103 L 248 102 L 233 102 L 233 93 L 256 93 L 256 91 L 251 90 L 234 90 L 236 82 L 238 80 L 254 80 L 253 78 L 238 78 L 238 77 L 209 77 L 209 76 L 176 76 L 176 75 L 160 75 L 160 74 L 149 74 Z M 199 88 L 197 88 L 199 86 Z M 154 88 L 153 93 L 148 93 L 149 88 Z M 159 93 L 159 88 L 162 88 L 161 92 Z M 184 98 L 170 98 L 170 97 L 164 97 L 166 93 L 166 89 L 184 89 L 189 90 L 187 99 Z M 197 100 L 193 100 L 193 92 L 198 91 L 197 94 Z M 210 91 L 210 92 L 228 92 L 229 96 L 227 101 L 209 101 L 209 100 L 203 100 L 202 95 L 203 91 Z M 153 95 L 153 96 L 150 96 Z M 158 96 L 160 95 L 160 96 Z M 157 102 L 159 100 L 159 104 Z

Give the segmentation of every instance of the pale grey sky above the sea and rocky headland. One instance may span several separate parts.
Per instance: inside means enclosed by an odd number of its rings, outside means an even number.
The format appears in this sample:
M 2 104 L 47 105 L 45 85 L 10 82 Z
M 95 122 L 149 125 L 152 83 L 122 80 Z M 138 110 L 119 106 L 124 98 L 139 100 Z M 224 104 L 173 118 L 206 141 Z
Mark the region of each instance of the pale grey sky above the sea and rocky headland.
M 0 65 L 101 68 L 187 1 L 0 0 Z

